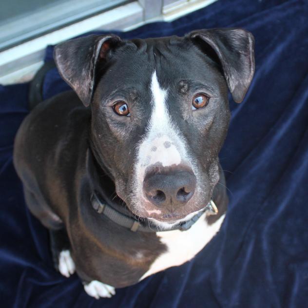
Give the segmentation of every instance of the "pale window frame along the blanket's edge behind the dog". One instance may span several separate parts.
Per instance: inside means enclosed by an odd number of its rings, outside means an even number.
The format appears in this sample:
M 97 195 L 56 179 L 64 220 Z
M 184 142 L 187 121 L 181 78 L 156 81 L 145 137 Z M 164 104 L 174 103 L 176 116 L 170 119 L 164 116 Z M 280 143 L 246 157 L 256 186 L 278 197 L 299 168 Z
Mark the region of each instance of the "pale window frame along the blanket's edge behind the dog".
M 91 31 L 129 31 L 153 21 L 172 21 L 217 0 L 167 0 L 167 10 L 164 1 L 131 1 L 0 52 L 0 84 L 31 80 L 43 65 L 47 45 L 55 45 Z

